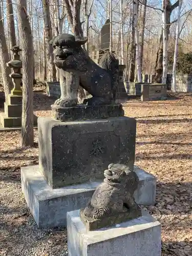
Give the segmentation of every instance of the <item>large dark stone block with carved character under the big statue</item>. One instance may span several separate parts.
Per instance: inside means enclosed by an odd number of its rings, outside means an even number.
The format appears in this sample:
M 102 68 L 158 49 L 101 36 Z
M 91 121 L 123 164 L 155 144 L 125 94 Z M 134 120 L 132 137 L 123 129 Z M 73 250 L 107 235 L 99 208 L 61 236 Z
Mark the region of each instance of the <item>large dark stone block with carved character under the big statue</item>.
M 96 181 L 110 163 L 135 161 L 136 120 L 60 122 L 38 118 L 39 167 L 53 188 Z

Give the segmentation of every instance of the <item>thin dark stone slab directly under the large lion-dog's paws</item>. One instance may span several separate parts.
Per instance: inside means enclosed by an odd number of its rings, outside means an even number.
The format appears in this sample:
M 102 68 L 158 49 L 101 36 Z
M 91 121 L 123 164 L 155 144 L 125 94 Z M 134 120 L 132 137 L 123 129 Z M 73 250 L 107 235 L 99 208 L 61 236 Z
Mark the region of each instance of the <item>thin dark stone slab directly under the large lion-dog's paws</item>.
M 102 119 L 109 117 L 124 116 L 124 110 L 121 104 L 115 105 L 76 105 L 69 108 L 52 105 L 52 117 L 59 121 L 75 121 L 87 119 Z

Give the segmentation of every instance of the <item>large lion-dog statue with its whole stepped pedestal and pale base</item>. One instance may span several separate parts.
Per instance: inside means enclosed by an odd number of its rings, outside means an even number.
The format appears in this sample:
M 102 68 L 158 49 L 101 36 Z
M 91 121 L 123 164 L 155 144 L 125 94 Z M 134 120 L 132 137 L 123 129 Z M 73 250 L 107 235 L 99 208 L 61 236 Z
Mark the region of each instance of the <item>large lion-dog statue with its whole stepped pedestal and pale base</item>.
M 56 66 L 66 77 L 52 118 L 38 118 L 39 166 L 23 167 L 22 190 L 38 227 L 66 226 L 67 212 L 85 207 L 111 162 L 139 177 L 136 202 L 155 202 L 156 179 L 134 166 L 136 120 L 115 103 L 118 61 L 106 53 L 102 68 L 83 51 L 87 41 L 62 34 L 53 42 Z M 78 84 L 93 97 L 77 104 Z

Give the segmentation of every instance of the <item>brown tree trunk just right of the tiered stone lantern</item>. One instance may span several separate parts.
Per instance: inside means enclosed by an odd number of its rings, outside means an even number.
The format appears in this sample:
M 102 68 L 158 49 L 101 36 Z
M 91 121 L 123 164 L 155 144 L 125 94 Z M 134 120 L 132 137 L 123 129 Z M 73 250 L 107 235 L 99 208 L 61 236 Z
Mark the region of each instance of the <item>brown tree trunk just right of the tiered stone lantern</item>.
M 27 14 L 27 1 L 17 0 L 18 23 L 23 49 L 23 102 L 21 146 L 32 146 L 33 132 L 33 36 Z

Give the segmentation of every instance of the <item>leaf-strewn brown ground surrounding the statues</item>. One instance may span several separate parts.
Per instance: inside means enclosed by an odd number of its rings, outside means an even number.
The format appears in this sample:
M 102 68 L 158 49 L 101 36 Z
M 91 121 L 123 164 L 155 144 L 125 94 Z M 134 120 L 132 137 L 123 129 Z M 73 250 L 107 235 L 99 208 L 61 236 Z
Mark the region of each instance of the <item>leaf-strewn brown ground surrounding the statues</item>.
M 192 94 L 166 101 L 123 103 L 137 119 L 135 164 L 157 177 L 156 205 L 147 210 L 162 224 L 162 256 L 192 255 Z M 34 95 L 34 112 L 49 116 L 54 99 Z M 19 147 L 19 132 L 0 133 L 0 255 L 67 255 L 65 228 L 41 229 L 27 208 L 20 167 L 38 164 L 35 146 Z

